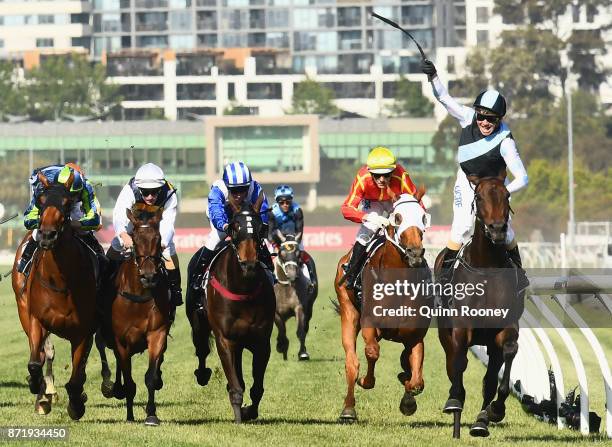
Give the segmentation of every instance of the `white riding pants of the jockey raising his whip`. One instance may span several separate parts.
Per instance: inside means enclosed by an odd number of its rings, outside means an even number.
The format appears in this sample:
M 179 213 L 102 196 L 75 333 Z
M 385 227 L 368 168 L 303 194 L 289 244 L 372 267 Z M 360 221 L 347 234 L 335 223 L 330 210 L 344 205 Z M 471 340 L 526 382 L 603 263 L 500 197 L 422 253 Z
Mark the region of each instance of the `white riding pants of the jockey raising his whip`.
M 474 186 L 470 183 L 461 168 L 457 171 L 457 180 L 453 190 L 453 224 L 450 239 L 456 244 L 465 244 L 474 234 L 476 206 L 474 205 Z M 514 230 L 508 216 L 506 244 L 514 240 Z

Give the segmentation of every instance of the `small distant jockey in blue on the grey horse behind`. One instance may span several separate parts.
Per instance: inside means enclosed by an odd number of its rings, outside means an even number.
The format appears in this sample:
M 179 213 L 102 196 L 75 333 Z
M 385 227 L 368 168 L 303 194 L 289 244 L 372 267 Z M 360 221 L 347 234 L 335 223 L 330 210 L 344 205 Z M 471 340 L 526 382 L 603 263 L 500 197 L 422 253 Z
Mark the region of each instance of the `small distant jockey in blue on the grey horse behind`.
M 275 245 L 280 246 L 285 236 L 293 234 L 299 243 L 302 262 L 304 262 L 304 276 L 310 281 L 309 287 L 314 289 L 317 285 L 317 271 L 314 259 L 304 250 L 302 236 L 304 235 L 304 213 L 297 202 L 293 201 L 293 188 L 289 185 L 280 185 L 274 190 L 276 203 L 269 211 L 268 219 L 270 231 L 268 239 Z

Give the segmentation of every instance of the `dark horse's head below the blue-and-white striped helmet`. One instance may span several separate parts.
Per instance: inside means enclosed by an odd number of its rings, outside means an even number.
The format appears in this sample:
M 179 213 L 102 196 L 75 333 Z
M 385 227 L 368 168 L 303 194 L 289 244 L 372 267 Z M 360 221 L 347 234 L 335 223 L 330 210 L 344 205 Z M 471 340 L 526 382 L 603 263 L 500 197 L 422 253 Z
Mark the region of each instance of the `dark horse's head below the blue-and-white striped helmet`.
M 259 210 L 263 198 L 262 193 L 254 205 L 246 201 L 235 203 L 233 200 L 229 200 L 228 202 L 232 209 L 232 218 L 229 221 L 227 234 L 231 239 L 230 244 L 236 253 L 240 268 L 247 276 L 255 274 L 255 268 L 259 263 L 257 253 L 263 230 Z

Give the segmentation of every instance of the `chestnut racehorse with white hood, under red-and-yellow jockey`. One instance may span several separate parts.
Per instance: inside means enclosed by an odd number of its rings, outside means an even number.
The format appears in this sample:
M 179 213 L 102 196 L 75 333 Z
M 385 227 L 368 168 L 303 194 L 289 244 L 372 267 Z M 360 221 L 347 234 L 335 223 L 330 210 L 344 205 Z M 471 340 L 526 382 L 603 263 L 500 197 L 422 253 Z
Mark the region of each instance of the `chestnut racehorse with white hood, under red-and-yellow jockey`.
M 425 189 L 420 188 L 416 195 L 404 194 L 394 204 L 391 215 L 391 228 L 386 229 L 387 238 L 384 245 L 367 261 L 365 268 L 375 267 L 405 268 L 410 272 L 408 280 L 416 281 L 412 275 L 423 272 L 427 268 L 423 254 L 423 231 L 425 229 L 425 211 L 419 202 L 425 194 Z M 392 340 L 404 345 L 404 351 L 400 356 L 400 365 L 403 372 L 398 378 L 403 383 L 405 392 L 400 402 L 400 411 L 406 416 L 416 411 L 416 400 L 414 396 L 424 389 L 423 381 L 423 358 L 425 354 L 423 338 L 427 333 L 428 325 L 425 327 L 401 327 L 395 329 L 380 329 L 375 327 L 361 328 L 361 306 L 357 302 L 353 290 L 347 290 L 344 284 L 339 285 L 344 275 L 342 264 L 349 259 L 350 253 L 344 255 L 338 262 L 336 270 L 335 288 L 338 297 L 339 312 L 342 322 L 342 346 L 346 354 L 345 373 L 347 393 L 344 399 L 344 408 L 340 414 L 341 422 L 352 422 L 357 420 L 355 410 L 355 383 L 370 389 L 374 388 L 374 367 L 378 360 L 380 347 L 378 340 L 381 338 Z M 413 267 L 417 267 L 414 268 Z M 407 300 L 410 305 L 410 300 Z M 356 353 L 357 334 L 361 330 L 365 341 L 365 355 L 368 361 L 368 371 L 365 377 L 358 379 L 359 359 Z

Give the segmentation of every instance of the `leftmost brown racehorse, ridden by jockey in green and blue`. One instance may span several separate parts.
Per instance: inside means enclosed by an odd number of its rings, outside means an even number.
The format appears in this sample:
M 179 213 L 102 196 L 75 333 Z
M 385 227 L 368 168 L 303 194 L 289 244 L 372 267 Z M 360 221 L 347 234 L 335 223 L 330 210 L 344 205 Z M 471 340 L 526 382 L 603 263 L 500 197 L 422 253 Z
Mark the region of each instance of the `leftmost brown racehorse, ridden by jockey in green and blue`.
M 69 191 L 74 175 L 65 184 L 54 185 L 42 174 L 38 178 L 44 187 L 38 198 L 41 249 L 31 261 L 25 283 L 13 266 L 13 290 L 30 344 L 30 392 L 38 396 L 46 392 L 42 367 L 48 335 L 67 339 L 72 347 L 72 374 L 66 384 L 68 414 L 78 420 L 85 413 L 83 385 L 95 331 L 96 278 L 88 250 L 73 236 L 70 226 Z

